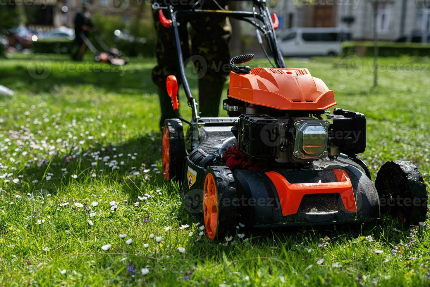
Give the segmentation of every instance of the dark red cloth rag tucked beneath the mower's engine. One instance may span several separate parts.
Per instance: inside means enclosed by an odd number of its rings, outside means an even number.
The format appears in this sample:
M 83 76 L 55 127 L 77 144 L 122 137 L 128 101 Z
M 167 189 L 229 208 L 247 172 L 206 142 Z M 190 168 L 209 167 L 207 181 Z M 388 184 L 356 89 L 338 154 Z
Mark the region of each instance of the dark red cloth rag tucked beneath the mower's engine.
M 230 168 L 230 170 L 267 170 L 267 164 L 265 161 L 253 160 L 251 157 L 240 151 L 237 145 L 228 148 L 227 151 L 225 151 L 222 159 L 225 161 L 227 167 Z

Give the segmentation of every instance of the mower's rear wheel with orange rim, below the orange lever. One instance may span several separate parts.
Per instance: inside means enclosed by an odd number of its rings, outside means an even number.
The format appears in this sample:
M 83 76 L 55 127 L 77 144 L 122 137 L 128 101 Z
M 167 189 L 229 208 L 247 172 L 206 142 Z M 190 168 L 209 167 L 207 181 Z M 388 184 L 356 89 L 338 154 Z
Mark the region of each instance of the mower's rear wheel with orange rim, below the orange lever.
M 181 120 L 167 119 L 164 122 L 162 144 L 164 178 L 181 181 L 186 157 Z

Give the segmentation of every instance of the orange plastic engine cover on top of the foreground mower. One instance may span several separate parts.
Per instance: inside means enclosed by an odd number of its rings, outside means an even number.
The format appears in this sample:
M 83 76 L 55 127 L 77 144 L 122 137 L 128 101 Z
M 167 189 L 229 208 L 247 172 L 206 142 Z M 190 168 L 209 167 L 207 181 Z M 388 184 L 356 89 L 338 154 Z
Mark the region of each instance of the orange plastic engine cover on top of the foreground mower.
M 307 69 L 255 68 L 230 73 L 228 96 L 278 110 L 324 111 L 337 103 L 333 91 Z

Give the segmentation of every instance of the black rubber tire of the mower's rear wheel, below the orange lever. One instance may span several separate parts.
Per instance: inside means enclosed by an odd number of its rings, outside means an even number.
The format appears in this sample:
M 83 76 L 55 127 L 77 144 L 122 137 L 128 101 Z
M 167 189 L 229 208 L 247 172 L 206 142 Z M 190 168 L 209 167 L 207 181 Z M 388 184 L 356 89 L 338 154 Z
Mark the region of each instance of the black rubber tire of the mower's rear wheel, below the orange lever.
M 179 119 L 167 119 L 163 127 L 167 127 L 169 131 L 169 180 L 181 182 L 184 159 L 187 156 L 182 122 Z

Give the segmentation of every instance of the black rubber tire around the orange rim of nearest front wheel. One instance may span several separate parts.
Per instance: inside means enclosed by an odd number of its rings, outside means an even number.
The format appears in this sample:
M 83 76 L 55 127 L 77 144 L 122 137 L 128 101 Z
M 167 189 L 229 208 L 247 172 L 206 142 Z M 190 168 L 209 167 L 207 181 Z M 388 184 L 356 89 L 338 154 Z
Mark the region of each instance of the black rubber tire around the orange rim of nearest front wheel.
M 234 236 L 237 232 L 239 219 L 239 198 L 233 173 L 225 166 L 212 166 L 206 175 L 211 173 L 216 182 L 218 197 L 218 224 L 215 240 L 224 241 L 226 237 Z M 203 213 L 205 212 L 203 207 Z

